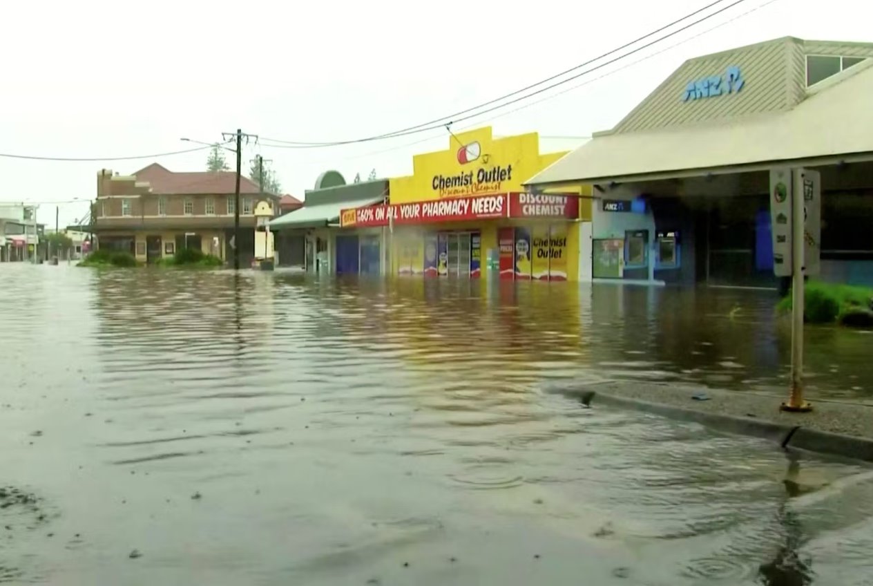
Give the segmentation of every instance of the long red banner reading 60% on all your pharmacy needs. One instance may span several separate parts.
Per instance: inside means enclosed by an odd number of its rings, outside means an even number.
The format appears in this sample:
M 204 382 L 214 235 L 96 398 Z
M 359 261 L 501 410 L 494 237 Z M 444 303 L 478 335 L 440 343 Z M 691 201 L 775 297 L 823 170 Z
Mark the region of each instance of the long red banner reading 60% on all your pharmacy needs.
M 461 222 L 480 218 L 506 217 L 508 202 L 505 194 L 476 197 L 450 197 L 428 202 L 371 205 L 353 210 L 340 210 L 340 225 L 387 226 L 393 218 L 396 225 L 428 224 L 431 222 Z

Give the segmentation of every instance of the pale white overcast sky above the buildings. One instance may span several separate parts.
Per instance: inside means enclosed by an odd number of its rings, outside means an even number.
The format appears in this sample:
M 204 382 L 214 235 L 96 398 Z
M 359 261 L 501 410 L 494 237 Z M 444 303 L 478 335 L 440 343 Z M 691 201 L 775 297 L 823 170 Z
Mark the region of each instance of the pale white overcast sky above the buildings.
M 513 92 L 711 1 L 9 3 L 0 37 L 0 153 L 148 155 L 192 146 L 181 137 L 217 141 L 236 128 L 284 141 L 384 134 Z M 453 129 L 491 124 L 504 135 L 588 135 L 610 128 L 684 59 L 785 35 L 870 41 L 870 16 L 868 0 L 746 0 L 627 59 Z M 545 142 L 557 149 L 566 141 Z M 244 169 L 260 152 L 273 160 L 285 192 L 302 198 L 323 170 L 338 169 L 348 181 L 370 169 L 404 175 L 412 155 L 448 142 L 444 131 L 430 130 L 333 148 L 266 144 L 244 149 Z M 203 169 L 205 159 L 200 152 L 156 160 L 182 171 Z M 154 160 L 0 157 L 0 203 L 45 203 L 39 217 L 51 224 L 48 202 L 92 198 L 102 167 L 130 173 Z M 61 223 L 86 206 L 61 205 Z

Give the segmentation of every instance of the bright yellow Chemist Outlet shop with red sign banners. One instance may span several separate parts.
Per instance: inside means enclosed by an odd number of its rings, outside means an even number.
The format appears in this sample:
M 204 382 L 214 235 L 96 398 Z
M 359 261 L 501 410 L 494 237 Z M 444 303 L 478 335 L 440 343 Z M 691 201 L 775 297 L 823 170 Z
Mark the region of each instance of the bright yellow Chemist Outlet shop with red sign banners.
M 394 274 L 578 280 L 588 188 L 522 187 L 566 152 L 540 154 L 538 134 L 498 138 L 490 127 L 447 141 L 444 150 L 415 155 L 412 175 L 388 180 L 388 203 L 341 210 L 341 229 L 382 231 Z

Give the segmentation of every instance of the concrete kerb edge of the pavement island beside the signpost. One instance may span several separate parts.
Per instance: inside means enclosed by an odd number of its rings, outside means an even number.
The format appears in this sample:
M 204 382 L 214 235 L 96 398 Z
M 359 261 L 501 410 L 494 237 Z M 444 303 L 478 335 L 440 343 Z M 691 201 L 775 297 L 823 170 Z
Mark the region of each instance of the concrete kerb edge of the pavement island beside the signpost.
M 578 398 L 586 405 L 602 403 L 681 421 L 693 421 L 727 433 L 763 438 L 783 448 L 873 462 L 873 439 L 818 431 L 801 425 L 780 424 L 766 419 L 707 413 L 665 403 L 651 403 L 642 399 L 610 395 L 597 390 L 553 388 L 550 392 Z

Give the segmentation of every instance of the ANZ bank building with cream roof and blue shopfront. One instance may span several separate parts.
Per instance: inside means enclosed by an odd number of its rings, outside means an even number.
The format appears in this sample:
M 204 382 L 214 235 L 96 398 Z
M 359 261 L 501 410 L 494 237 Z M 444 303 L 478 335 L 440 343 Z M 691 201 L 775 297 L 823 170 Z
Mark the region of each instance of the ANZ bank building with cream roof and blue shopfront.
M 814 169 L 821 279 L 873 283 L 871 65 L 873 44 L 797 38 L 691 59 L 526 184 L 593 186 L 582 279 L 775 287 L 770 175 Z

